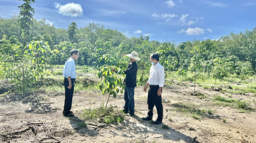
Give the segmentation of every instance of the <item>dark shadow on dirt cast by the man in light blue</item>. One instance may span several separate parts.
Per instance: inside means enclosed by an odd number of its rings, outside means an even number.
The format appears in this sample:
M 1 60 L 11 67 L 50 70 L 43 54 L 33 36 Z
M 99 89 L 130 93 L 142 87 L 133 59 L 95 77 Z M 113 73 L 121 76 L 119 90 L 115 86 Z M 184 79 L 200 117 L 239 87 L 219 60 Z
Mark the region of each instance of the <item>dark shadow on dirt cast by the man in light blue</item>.
M 97 127 L 92 127 L 93 129 L 89 129 L 85 121 L 78 118 L 77 116 L 70 116 L 68 117 L 68 119 L 70 120 L 71 126 L 75 131 L 77 131 L 77 133 L 84 134 L 84 135 L 87 134 L 88 136 L 92 136 L 92 137 L 98 135 Z

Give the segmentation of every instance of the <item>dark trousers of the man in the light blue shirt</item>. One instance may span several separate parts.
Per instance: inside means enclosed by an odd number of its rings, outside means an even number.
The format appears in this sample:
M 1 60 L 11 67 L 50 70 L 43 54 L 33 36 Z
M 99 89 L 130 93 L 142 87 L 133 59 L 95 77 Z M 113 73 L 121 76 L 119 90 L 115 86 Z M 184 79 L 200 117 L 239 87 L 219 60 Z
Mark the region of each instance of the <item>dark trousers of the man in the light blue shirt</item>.
M 64 78 L 64 86 L 65 86 L 65 102 L 64 102 L 64 114 L 70 114 L 70 110 L 72 107 L 72 99 L 73 99 L 73 93 L 74 93 L 74 81 L 75 79 L 72 78 L 71 82 L 72 82 L 72 87 L 71 89 L 68 89 L 68 85 L 70 84 L 70 82 L 68 81 L 67 78 Z

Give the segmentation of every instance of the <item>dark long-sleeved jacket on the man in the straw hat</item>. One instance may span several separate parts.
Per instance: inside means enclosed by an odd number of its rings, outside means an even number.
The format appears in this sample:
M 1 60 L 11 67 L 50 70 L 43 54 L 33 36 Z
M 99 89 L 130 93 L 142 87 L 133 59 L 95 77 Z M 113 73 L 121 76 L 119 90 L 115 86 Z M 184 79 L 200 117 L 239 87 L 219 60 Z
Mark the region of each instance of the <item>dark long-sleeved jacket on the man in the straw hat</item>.
M 124 81 L 126 82 L 127 87 L 136 87 L 136 77 L 137 77 L 138 65 L 136 62 L 132 64 L 129 63 L 127 70 L 123 71 L 126 74 Z

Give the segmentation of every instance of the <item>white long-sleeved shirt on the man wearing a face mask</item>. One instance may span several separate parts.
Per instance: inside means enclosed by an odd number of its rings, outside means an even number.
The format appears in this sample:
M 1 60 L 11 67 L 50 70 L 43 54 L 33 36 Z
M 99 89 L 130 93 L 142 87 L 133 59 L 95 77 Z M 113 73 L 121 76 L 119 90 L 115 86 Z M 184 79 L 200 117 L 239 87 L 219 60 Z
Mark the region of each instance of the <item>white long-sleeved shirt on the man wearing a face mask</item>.
M 164 67 L 160 63 L 150 67 L 148 83 L 149 85 L 159 85 L 159 87 L 163 87 Z

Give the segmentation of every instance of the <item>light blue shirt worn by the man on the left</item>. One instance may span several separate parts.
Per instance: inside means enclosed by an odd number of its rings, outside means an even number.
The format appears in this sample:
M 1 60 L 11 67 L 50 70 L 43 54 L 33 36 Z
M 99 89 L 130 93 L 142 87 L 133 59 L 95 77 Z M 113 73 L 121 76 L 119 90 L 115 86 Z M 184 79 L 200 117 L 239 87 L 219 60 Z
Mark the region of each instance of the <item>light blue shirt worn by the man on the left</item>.
M 71 77 L 76 78 L 77 75 L 75 74 L 75 61 L 72 57 L 70 57 L 64 65 L 63 69 L 63 77 Z

